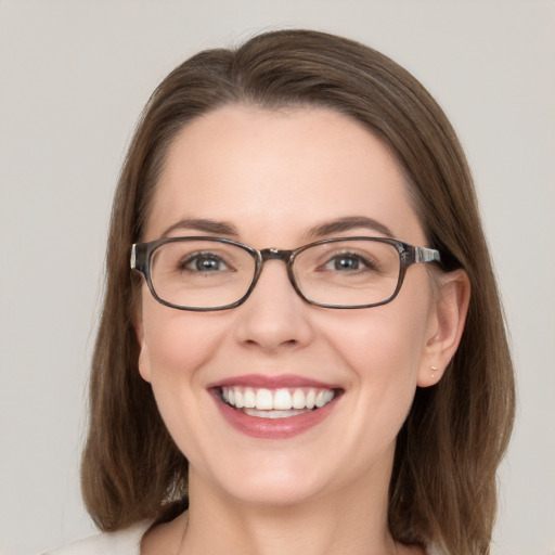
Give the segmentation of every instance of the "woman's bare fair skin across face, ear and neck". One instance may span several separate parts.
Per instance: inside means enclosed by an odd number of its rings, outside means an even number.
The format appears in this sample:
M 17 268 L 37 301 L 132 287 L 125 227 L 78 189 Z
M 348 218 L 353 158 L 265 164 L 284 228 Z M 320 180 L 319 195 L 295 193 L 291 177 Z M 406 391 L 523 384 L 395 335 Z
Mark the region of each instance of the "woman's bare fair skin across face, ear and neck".
M 314 241 L 314 228 L 352 217 L 426 246 L 397 163 L 356 121 L 323 108 L 227 106 L 175 140 L 144 241 L 173 227 L 169 236 L 292 249 Z M 315 238 L 384 236 L 382 227 Z M 396 437 L 415 388 L 437 383 L 453 356 L 468 300 L 464 275 L 438 272 L 433 285 L 425 266 L 409 269 L 392 302 L 358 310 L 308 305 L 282 261 L 267 262 L 231 310 L 176 310 L 143 287 L 139 367 L 189 460 L 191 500 L 188 514 L 146 534 L 144 555 L 424 553 L 396 544 L 387 528 Z M 308 429 L 254 437 L 222 417 L 212 388 L 251 375 L 318 380 L 340 395 Z

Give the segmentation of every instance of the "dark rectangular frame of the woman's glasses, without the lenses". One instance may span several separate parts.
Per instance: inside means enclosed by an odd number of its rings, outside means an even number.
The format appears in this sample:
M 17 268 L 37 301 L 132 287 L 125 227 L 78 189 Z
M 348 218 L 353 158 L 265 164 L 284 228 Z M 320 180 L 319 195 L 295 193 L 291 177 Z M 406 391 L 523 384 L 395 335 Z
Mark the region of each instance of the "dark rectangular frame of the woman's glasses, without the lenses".
M 253 281 L 250 283 L 250 286 L 246 291 L 246 293 L 235 302 L 231 302 L 229 305 L 222 305 L 219 307 L 182 307 L 180 305 L 175 305 L 172 302 L 169 302 L 167 300 L 164 300 L 158 296 L 156 293 L 156 289 L 154 288 L 154 285 L 152 283 L 151 278 L 151 263 L 152 263 L 152 257 L 154 253 L 162 247 L 163 245 L 166 245 L 167 243 L 176 243 L 176 242 L 184 242 L 184 241 L 204 241 L 204 242 L 210 242 L 214 241 L 216 243 L 225 243 L 228 245 L 234 245 L 238 248 L 242 248 L 243 250 L 246 250 L 255 260 L 255 273 Z M 304 250 L 307 250 L 308 248 L 318 246 L 318 245 L 324 245 L 328 243 L 338 243 L 338 242 L 345 242 L 345 241 L 374 241 L 377 243 L 386 243 L 388 245 L 392 245 L 399 255 L 399 278 L 397 280 L 397 286 L 393 291 L 393 293 L 385 300 L 380 300 L 379 302 L 372 302 L 370 305 L 330 305 L 330 304 L 323 304 L 323 302 L 317 302 L 309 297 L 307 297 L 299 288 L 297 284 L 297 280 L 295 278 L 295 273 L 293 271 L 293 264 L 295 262 L 295 259 L 297 256 L 302 253 Z M 388 302 L 391 302 L 399 292 L 401 291 L 401 286 L 404 281 L 404 275 L 406 273 L 406 269 L 412 264 L 417 263 L 426 263 L 426 262 L 440 262 L 441 261 L 441 255 L 439 250 L 436 250 L 435 248 L 428 248 L 428 247 L 418 247 L 409 245 L 408 243 L 403 243 L 402 241 L 396 240 L 396 238 L 388 238 L 388 237 L 364 237 L 364 236 L 353 236 L 353 237 L 332 237 L 332 238 L 324 238 L 321 241 L 315 241 L 313 243 L 309 243 L 307 245 L 302 245 L 301 247 L 295 248 L 293 250 L 287 249 L 281 249 L 281 248 L 262 248 L 261 250 L 258 250 L 257 248 L 250 247 L 248 245 L 245 245 L 243 243 L 238 243 L 236 241 L 233 241 L 231 238 L 225 237 L 211 237 L 211 236 L 186 236 L 186 237 L 167 237 L 167 238 L 159 238 L 156 241 L 151 241 L 147 243 L 134 243 L 131 246 L 131 270 L 135 270 L 140 272 L 149 285 L 149 289 L 151 291 L 151 294 L 153 297 L 160 304 L 165 305 L 166 307 L 175 308 L 178 310 L 189 310 L 194 312 L 214 312 L 218 310 L 229 310 L 232 308 L 236 308 L 249 297 L 249 295 L 253 293 L 254 288 L 256 287 L 256 284 L 258 282 L 258 279 L 260 278 L 260 274 L 262 272 L 263 264 L 268 260 L 282 260 L 287 266 L 287 275 L 289 279 L 291 284 L 293 285 L 293 288 L 296 291 L 297 295 L 308 302 L 309 305 L 313 305 L 317 307 L 322 308 L 332 308 L 332 309 L 359 309 L 359 308 L 372 308 L 372 307 L 378 307 L 380 305 L 387 305 Z

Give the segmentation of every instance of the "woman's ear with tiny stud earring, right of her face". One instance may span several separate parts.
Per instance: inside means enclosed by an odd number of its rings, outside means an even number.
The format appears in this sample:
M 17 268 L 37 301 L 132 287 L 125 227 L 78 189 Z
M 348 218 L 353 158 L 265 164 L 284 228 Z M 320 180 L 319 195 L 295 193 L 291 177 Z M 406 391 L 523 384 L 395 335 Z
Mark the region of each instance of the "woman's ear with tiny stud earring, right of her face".
M 418 369 L 417 385 L 436 385 L 453 358 L 463 335 L 470 283 L 464 270 L 439 275 L 427 340 Z

